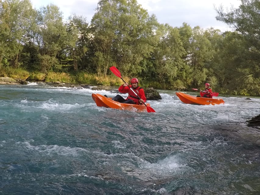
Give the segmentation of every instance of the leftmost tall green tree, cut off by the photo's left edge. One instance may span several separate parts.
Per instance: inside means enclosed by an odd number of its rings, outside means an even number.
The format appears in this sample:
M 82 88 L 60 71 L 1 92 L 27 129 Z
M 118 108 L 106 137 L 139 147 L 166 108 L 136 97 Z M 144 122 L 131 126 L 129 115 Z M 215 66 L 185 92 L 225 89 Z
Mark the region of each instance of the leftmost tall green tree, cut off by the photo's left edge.
M 27 44 L 27 32 L 34 14 L 29 0 L 0 1 L 0 66 L 20 66 L 20 54 Z

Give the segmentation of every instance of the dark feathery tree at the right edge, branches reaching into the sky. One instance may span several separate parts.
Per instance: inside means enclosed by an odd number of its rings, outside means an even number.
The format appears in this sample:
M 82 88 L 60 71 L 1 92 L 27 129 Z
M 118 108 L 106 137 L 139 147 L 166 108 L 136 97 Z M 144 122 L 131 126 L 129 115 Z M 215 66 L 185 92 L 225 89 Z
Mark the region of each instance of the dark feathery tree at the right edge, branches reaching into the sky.
M 255 95 L 260 95 L 259 0 L 241 0 L 239 8 L 231 7 L 225 11 L 223 6 L 220 6 L 216 11 L 218 13 L 217 20 L 223 21 L 237 31 L 236 34 L 230 35 L 235 42 L 233 42 L 232 49 L 227 53 L 227 56 L 232 58 L 233 65 L 229 68 L 234 73 L 240 73 L 239 80 L 247 83 L 246 89 L 249 93 L 253 92 Z M 226 67 L 228 67 L 228 64 L 226 64 Z M 237 87 L 242 90 L 241 87 Z

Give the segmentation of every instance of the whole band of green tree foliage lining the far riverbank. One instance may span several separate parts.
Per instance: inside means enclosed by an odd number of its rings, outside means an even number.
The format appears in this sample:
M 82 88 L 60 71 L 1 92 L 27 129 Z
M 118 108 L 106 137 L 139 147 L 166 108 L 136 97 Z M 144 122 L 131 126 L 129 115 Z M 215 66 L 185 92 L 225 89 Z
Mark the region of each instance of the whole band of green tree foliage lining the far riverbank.
M 209 82 L 221 93 L 260 95 L 259 0 L 215 10 L 234 31 L 160 24 L 137 0 L 100 0 L 91 22 L 64 20 L 54 4 L 37 10 L 29 0 L 0 0 L 0 69 L 107 76 L 116 66 L 152 87 Z

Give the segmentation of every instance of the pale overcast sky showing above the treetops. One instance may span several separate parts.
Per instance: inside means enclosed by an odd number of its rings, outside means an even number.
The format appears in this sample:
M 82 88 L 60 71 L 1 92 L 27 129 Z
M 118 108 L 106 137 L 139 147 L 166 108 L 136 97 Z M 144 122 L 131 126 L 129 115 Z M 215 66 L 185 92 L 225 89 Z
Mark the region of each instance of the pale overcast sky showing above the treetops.
M 64 19 L 75 13 L 87 17 L 90 22 L 98 0 L 31 0 L 33 7 L 39 9 L 50 3 L 57 5 L 63 12 Z M 192 28 L 220 29 L 222 32 L 232 30 L 225 23 L 215 19 L 217 15 L 214 5 L 230 8 L 232 5 L 238 8 L 240 0 L 137 0 L 137 2 L 149 13 L 155 14 L 159 23 L 168 23 L 172 27 L 181 27 L 183 22 L 188 23 Z

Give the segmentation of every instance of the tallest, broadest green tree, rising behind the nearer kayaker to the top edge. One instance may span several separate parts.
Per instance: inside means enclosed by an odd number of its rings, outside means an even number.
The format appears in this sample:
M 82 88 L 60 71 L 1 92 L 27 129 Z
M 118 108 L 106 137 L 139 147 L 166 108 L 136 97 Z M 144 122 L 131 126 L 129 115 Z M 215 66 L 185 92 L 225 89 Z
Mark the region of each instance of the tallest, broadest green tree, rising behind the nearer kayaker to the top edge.
M 130 75 L 145 69 L 140 62 L 153 51 L 157 20 L 136 0 L 99 1 L 91 25 L 98 73 L 106 75 L 112 65 Z

